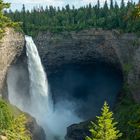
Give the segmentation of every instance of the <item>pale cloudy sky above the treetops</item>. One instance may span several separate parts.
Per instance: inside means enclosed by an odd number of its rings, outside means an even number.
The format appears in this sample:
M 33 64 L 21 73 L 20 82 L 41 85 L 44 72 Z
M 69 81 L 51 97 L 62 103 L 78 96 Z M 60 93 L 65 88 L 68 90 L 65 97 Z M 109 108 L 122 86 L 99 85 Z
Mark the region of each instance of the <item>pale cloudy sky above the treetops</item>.
M 93 4 L 95 5 L 97 3 L 97 0 L 4 0 L 5 2 L 11 3 L 11 9 L 21 9 L 22 5 L 25 4 L 27 9 L 31 9 L 33 6 L 39 6 L 39 5 L 53 5 L 53 6 L 65 6 L 67 4 L 74 5 L 75 7 L 80 7 L 86 4 Z M 100 0 L 100 3 L 103 4 L 105 0 Z M 110 1 L 110 0 L 108 0 Z M 115 0 L 114 0 L 115 1 Z M 120 3 L 121 0 L 116 0 L 118 3 Z M 125 0 L 127 2 L 128 0 Z M 134 2 L 137 2 L 138 0 L 133 0 Z

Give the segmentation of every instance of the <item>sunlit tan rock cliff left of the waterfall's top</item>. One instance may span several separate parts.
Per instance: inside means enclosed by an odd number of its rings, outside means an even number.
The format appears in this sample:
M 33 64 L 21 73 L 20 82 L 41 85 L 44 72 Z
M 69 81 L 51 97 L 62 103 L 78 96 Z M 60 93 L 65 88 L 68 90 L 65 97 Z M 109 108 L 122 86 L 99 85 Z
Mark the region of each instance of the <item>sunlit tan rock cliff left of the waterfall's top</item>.
M 5 36 L 0 42 L 0 94 L 6 87 L 6 74 L 9 66 L 16 60 L 24 47 L 24 36 L 13 29 L 6 29 Z M 6 93 L 5 93 L 6 94 Z M 5 96 L 3 94 L 3 96 Z

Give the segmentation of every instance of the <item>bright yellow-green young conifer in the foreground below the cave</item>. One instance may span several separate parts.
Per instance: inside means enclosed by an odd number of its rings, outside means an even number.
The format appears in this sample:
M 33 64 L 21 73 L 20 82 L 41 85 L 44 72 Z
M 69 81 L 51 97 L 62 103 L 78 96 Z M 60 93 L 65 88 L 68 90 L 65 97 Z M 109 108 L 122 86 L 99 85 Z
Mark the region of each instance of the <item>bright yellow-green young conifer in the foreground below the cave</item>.
M 97 117 L 97 124 L 91 123 L 91 137 L 86 137 L 86 140 L 117 140 L 122 136 L 116 128 L 113 113 L 109 111 L 109 106 L 105 102 L 102 108 L 101 116 Z

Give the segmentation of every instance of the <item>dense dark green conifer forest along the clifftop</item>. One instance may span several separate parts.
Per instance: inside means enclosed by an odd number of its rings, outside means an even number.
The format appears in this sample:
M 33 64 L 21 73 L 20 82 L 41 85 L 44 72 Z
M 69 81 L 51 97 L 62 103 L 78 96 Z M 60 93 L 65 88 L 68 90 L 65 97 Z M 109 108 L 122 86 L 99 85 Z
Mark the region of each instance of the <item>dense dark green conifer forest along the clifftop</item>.
M 115 4 L 114 4 L 115 3 Z M 111 0 L 110 6 L 107 1 L 100 7 L 100 1 L 95 6 L 91 4 L 79 9 L 49 6 L 35 7 L 31 11 L 26 10 L 23 5 L 20 11 L 5 12 L 13 21 L 23 22 L 22 29 L 26 34 L 36 35 L 39 31 L 79 31 L 90 28 L 119 29 L 123 32 L 139 32 L 140 19 L 133 20 L 133 11 L 136 11 L 135 3 L 132 1 L 118 6 L 117 1 Z

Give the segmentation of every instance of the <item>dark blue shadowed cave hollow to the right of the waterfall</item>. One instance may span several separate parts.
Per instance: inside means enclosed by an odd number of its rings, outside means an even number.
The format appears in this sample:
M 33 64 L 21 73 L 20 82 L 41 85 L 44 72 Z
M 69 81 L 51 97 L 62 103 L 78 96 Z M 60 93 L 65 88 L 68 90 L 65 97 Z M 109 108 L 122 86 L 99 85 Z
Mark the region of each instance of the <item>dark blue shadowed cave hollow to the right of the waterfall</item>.
M 123 85 L 123 75 L 115 66 L 96 61 L 61 65 L 51 71 L 48 81 L 54 109 L 66 100 L 73 103 L 74 112 L 86 120 L 99 115 L 104 101 L 114 107 Z

